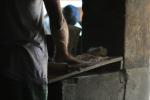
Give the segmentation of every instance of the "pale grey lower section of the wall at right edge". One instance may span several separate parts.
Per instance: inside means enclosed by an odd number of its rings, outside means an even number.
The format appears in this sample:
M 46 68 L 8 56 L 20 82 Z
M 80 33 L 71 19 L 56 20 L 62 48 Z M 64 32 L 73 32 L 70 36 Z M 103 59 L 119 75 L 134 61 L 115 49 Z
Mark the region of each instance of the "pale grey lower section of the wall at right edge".
M 125 100 L 149 100 L 148 68 L 128 69 Z

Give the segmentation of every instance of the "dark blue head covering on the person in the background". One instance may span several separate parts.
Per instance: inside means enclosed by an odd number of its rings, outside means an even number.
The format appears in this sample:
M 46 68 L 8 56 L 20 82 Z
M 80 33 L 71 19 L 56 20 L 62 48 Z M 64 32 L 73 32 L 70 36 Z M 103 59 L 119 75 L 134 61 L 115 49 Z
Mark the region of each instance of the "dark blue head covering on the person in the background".
M 73 5 L 64 7 L 63 14 L 68 24 L 74 25 L 80 21 L 79 9 Z

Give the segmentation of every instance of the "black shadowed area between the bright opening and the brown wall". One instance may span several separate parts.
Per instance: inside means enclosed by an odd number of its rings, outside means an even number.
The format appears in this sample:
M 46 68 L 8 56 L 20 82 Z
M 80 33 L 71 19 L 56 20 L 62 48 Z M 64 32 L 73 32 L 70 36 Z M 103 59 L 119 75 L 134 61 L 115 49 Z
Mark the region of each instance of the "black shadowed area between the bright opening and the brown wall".
M 125 0 L 83 1 L 83 52 L 103 46 L 109 56 L 123 55 Z

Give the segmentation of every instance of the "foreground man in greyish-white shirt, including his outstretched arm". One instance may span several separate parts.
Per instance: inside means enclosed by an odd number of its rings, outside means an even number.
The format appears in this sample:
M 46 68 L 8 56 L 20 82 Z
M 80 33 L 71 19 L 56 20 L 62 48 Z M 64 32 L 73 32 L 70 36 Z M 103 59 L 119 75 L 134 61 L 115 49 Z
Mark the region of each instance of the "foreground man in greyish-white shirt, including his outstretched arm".
M 56 44 L 55 59 L 80 63 L 68 53 L 68 27 L 59 0 L 1 0 L 0 99 L 47 100 L 48 54 L 43 3 Z

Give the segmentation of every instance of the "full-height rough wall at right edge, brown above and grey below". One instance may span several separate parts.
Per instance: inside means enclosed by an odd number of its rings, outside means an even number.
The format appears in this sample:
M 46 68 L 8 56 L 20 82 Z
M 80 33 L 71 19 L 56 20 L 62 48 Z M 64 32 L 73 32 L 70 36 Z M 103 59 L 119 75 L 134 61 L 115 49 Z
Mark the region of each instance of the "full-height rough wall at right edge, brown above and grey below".
M 126 0 L 126 100 L 149 100 L 150 0 Z

